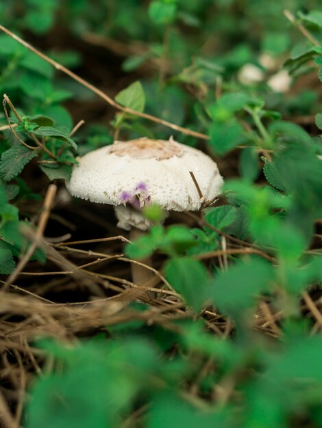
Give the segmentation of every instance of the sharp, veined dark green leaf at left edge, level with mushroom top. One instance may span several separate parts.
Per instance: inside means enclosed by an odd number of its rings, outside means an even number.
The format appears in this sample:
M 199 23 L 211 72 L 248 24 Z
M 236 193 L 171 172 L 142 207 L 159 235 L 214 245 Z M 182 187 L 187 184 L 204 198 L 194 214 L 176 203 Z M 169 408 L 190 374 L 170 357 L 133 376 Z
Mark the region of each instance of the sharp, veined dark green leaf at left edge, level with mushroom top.
M 38 150 L 29 150 L 29 148 L 22 144 L 5 150 L 0 160 L 0 178 L 5 181 L 12 180 L 36 156 L 38 156 Z

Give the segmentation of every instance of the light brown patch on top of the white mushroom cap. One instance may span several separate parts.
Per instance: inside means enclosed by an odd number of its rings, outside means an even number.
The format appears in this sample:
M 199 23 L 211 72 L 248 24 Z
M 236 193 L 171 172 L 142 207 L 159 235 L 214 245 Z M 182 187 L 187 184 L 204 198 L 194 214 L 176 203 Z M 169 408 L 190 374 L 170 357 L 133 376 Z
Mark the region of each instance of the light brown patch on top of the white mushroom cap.
M 116 141 L 110 153 L 123 157 L 130 156 L 134 159 L 157 159 L 162 161 L 171 157 L 182 156 L 182 147 L 172 138 L 169 141 L 163 139 L 137 138 L 129 142 Z

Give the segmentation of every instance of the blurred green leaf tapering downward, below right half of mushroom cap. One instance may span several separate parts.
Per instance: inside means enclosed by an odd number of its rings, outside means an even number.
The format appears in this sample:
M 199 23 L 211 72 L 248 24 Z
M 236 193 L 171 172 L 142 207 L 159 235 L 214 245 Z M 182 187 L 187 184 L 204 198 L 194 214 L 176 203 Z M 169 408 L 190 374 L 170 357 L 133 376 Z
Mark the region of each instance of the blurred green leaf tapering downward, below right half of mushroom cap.
M 164 268 L 166 278 L 188 306 L 201 310 L 209 297 L 209 278 L 201 262 L 190 257 L 172 258 Z

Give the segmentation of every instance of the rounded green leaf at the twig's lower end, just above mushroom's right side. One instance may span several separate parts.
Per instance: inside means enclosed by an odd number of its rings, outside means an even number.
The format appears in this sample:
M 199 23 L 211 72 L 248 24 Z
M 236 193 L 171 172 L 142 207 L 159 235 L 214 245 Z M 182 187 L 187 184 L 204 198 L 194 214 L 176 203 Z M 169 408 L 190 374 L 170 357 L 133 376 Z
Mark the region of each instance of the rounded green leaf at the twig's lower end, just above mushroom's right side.
M 243 141 L 243 127 L 237 120 L 210 125 L 210 146 L 219 155 L 224 155 Z

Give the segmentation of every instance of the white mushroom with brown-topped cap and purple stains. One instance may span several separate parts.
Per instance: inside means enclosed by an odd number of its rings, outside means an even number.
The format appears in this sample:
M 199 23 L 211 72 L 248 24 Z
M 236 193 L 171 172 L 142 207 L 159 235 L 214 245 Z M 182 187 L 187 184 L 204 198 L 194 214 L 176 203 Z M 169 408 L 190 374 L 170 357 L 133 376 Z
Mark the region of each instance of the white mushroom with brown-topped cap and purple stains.
M 151 227 L 141 213 L 145 205 L 197 211 L 205 199 L 219 195 L 222 184 L 216 163 L 200 150 L 172 137 L 169 141 L 144 137 L 116 141 L 79 158 L 67 187 L 73 196 L 114 205 L 118 226 L 129 230 L 133 240 L 139 230 L 142 234 Z M 143 270 L 132 265 L 136 284 L 142 284 Z

